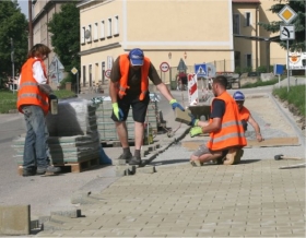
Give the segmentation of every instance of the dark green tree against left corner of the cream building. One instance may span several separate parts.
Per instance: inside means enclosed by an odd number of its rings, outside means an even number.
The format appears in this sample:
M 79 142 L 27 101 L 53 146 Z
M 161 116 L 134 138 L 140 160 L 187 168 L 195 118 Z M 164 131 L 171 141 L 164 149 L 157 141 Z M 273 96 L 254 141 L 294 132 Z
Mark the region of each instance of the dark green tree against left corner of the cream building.
M 80 10 L 72 1 L 61 5 L 61 11 L 55 13 L 48 23 L 52 34 L 54 51 L 58 55 L 67 72 L 75 67 L 80 70 Z

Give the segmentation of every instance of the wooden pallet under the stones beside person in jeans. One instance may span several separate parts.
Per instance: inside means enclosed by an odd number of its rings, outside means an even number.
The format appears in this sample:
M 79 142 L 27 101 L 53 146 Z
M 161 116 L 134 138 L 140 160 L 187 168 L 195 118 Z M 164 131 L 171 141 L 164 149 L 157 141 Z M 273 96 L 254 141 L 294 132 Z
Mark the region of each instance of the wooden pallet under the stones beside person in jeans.
M 99 165 L 99 158 L 92 158 L 84 162 L 69 162 L 64 164 L 54 163 L 56 167 L 61 167 L 61 172 L 82 172 Z M 23 172 L 23 166 L 19 166 L 19 175 Z

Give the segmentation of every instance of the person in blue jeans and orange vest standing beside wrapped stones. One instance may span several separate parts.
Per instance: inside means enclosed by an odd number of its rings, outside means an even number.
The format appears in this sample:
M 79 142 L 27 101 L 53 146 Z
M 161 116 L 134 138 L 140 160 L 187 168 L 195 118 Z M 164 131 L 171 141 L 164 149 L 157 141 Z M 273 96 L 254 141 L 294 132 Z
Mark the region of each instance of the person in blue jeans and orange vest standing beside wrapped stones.
M 19 79 L 17 109 L 24 115 L 26 124 L 23 176 L 60 171 L 59 167 L 50 165 L 45 120 L 49 111 L 49 102 L 57 99 L 48 85 L 44 63 L 50 51 L 43 44 L 33 46 Z

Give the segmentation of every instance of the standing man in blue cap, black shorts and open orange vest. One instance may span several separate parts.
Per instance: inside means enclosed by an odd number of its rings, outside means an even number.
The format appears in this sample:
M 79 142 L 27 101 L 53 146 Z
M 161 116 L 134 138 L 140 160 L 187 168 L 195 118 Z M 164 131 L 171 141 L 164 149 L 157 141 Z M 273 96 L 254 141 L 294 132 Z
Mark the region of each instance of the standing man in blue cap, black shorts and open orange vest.
M 111 119 L 116 123 L 117 133 L 121 142 L 123 153 L 119 159 L 125 159 L 130 165 L 140 165 L 140 148 L 143 140 L 144 120 L 150 103 L 149 79 L 156 85 L 163 96 L 169 100 L 173 109 L 180 104 L 173 98 L 167 86 L 162 82 L 156 69 L 149 58 L 144 57 L 139 48 L 129 53 L 120 55 L 113 64 L 110 72 L 109 95 L 113 105 Z M 126 120 L 129 109 L 132 107 L 134 120 L 134 155 L 132 156 L 128 143 L 128 130 Z

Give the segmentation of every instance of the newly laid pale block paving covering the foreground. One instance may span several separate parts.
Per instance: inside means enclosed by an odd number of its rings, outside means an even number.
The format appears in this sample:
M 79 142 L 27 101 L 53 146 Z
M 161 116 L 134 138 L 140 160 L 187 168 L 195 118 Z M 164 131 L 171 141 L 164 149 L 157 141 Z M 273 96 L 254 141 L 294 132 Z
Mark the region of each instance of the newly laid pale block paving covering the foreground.
M 191 167 L 191 152 L 175 143 L 187 130 L 183 124 L 170 139 L 158 135 L 172 146 L 154 155 L 149 169 L 89 195 L 92 204 L 80 206 L 83 217 L 51 216 L 37 236 L 305 237 L 305 168 L 280 169 L 305 160 L 273 159 L 291 151 L 305 159 L 304 146 L 245 148 L 239 165 Z M 105 151 L 111 158 L 121 152 Z

